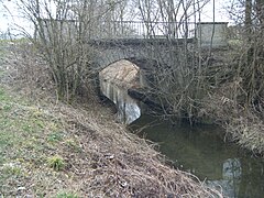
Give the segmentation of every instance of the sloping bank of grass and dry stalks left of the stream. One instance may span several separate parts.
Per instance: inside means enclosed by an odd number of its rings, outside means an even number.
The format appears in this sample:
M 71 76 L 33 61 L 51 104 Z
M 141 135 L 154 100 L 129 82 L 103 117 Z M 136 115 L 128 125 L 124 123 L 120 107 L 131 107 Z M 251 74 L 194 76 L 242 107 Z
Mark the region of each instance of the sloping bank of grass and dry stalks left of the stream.
M 97 100 L 57 101 L 47 91 L 45 67 L 21 52 L 6 51 L 1 62 L 0 196 L 217 196 L 195 176 L 166 166 Z

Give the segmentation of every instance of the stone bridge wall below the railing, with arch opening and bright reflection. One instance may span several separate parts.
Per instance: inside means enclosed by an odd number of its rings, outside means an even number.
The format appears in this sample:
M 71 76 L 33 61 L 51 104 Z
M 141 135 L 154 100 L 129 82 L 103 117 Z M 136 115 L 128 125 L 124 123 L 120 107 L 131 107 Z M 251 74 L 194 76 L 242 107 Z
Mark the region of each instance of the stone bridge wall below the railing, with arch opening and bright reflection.
M 90 42 L 97 52 L 95 62 L 100 70 L 100 90 L 116 103 L 119 121 L 129 124 L 140 118 L 144 105 L 139 99 L 150 102 L 145 96 L 142 98 L 142 95 L 135 100 L 129 95 L 129 90 L 151 89 L 158 70 L 177 67 L 174 65 L 178 58 L 175 55 L 187 53 L 185 51 L 191 47 L 194 42 L 195 38 L 121 38 Z M 153 103 L 152 100 L 151 102 Z

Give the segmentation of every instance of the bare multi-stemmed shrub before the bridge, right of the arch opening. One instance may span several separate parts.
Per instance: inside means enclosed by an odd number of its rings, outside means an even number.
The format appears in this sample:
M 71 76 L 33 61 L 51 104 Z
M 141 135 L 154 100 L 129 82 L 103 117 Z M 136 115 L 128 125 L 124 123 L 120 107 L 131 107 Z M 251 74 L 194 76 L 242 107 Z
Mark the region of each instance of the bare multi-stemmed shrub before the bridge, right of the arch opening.
M 148 0 L 141 1 L 139 8 L 148 37 L 158 38 L 160 30 L 168 44 L 168 52 L 161 54 L 161 46 L 155 45 L 153 40 L 155 53 L 152 57 L 156 67 L 152 70 L 154 79 L 150 81 L 152 94 L 162 103 L 167 116 L 188 118 L 190 122 L 198 117 L 198 103 L 209 90 L 211 80 L 206 67 L 201 67 L 199 46 L 189 43 L 196 34 L 196 20 L 207 2 Z

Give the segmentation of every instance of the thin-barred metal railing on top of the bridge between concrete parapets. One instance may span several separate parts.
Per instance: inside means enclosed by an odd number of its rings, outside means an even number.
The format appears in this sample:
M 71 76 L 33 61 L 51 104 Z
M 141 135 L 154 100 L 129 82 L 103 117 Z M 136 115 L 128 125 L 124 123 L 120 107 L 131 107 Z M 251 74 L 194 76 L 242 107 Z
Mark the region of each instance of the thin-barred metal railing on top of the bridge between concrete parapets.
M 91 38 L 193 38 L 196 23 L 101 21 L 91 32 Z

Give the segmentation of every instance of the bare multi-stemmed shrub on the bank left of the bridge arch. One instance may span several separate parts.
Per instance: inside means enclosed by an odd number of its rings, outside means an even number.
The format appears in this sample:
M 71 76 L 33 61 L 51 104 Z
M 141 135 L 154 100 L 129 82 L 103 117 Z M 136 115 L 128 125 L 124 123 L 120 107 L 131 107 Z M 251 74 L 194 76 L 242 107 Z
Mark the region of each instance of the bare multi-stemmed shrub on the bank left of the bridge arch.
M 34 25 L 31 41 L 50 65 L 58 98 L 70 101 L 97 73 L 88 41 L 106 34 L 109 15 L 123 18 L 124 1 L 20 0 L 18 7 Z

